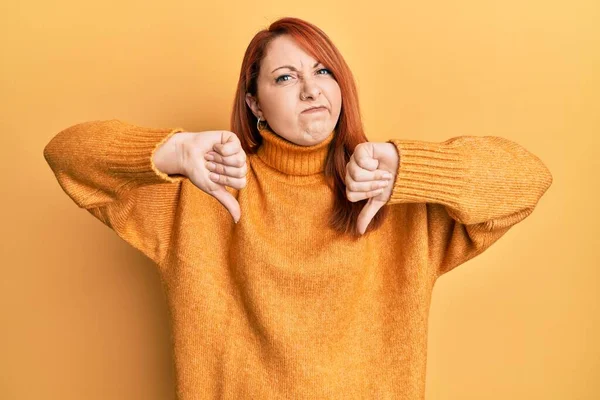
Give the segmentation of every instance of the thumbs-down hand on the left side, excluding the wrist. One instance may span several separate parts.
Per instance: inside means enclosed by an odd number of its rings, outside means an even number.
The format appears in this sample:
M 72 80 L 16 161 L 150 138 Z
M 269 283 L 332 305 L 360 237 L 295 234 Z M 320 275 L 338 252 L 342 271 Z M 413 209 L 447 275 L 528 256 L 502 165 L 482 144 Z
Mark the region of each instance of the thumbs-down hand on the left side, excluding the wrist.
M 246 186 L 246 152 L 237 135 L 230 131 L 186 132 L 180 151 L 184 175 L 223 204 L 237 223 L 240 205 L 225 190 L 225 186 Z

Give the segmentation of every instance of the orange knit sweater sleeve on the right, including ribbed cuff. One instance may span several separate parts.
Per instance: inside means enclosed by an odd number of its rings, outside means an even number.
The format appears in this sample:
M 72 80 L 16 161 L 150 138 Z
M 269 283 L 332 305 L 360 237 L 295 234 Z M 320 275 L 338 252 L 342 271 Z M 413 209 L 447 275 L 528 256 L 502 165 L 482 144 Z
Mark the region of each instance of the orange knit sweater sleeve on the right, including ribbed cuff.
M 552 184 L 542 161 L 498 136 L 391 139 L 400 156 L 386 204 L 426 203 L 429 261 L 440 276 L 529 216 Z

